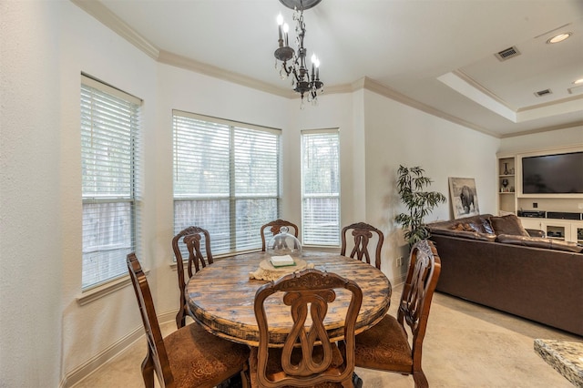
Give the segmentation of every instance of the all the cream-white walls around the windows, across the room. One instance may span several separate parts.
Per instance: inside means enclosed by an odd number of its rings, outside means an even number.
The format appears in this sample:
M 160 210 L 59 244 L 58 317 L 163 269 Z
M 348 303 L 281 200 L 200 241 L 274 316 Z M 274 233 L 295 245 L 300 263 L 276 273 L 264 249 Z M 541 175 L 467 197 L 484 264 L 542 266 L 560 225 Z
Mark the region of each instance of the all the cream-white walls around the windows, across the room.
M 131 287 L 77 302 L 82 71 L 144 100 L 139 259 L 164 316 L 178 308 L 169 265 L 173 108 L 281 128 L 282 217 L 298 224 L 300 131 L 340 128 L 342 223 L 364 220 L 384 230 L 384 271 L 392 280 L 402 275 L 393 260 L 404 244 L 393 222 L 399 164 L 424 167 L 431 189 L 447 197 L 448 177 L 475 178 L 480 209 L 495 210 L 495 138 L 364 90 L 324 94 L 319 107 L 300 110 L 297 99 L 160 65 L 68 1 L 2 1 L 0 15 L 0 386 L 69 385 L 141 334 Z M 448 219 L 450 211 L 445 204 L 430 220 Z

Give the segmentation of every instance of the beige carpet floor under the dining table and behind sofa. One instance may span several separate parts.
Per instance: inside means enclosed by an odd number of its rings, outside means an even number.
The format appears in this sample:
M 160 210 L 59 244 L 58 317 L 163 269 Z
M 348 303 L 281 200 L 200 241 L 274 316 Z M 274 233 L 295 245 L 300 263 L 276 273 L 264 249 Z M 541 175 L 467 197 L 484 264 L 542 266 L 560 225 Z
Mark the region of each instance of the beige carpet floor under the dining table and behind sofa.
M 394 290 L 394 314 L 401 289 Z M 174 322 L 162 325 L 167 334 Z M 535 338 L 583 341 L 502 312 L 435 293 L 424 341 L 423 368 L 431 387 L 561 388 L 572 387 L 533 350 Z M 145 340 L 135 343 L 76 388 L 143 387 L 140 365 Z M 413 387 L 413 378 L 357 368 L 363 388 Z

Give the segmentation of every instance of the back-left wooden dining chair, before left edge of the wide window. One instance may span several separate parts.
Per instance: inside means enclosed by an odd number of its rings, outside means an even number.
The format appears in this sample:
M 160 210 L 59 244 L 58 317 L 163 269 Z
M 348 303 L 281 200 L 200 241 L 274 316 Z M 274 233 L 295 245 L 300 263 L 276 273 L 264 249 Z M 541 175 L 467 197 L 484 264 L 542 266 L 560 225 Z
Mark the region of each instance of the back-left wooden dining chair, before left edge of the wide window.
M 204 246 L 206 251 L 206 261 L 202 252 L 200 251 L 200 240 L 204 239 Z M 180 247 L 186 247 L 189 252 L 189 260 L 187 264 L 188 279 L 192 277 L 192 266 L 194 265 L 195 273 L 199 271 L 200 267 L 204 268 L 208 264 L 212 264 L 212 253 L 210 252 L 210 234 L 208 230 L 196 226 L 190 226 L 184 230 L 180 230 L 179 234 L 172 239 L 172 250 L 174 250 L 174 257 L 176 258 L 176 270 L 179 275 L 179 312 L 176 314 L 176 326 L 178 328 L 184 327 L 186 324 L 186 317 L 189 315 L 189 305 L 186 301 L 184 288 L 186 287 L 186 279 L 184 276 L 184 260 L 182 259 L 182 252 Z

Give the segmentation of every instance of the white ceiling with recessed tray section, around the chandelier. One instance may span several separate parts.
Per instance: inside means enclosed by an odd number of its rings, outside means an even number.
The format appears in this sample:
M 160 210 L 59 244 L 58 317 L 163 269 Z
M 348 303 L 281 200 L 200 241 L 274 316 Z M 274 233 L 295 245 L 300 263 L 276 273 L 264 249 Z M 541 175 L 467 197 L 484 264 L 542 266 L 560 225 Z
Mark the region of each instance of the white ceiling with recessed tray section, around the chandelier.
M 160 62 L 291 96 L 278 0 L 72 1 Z M 583 125 L 583 0 L 322 0 L 304 21 L 327 93 L 364 85 L 499 138 Z

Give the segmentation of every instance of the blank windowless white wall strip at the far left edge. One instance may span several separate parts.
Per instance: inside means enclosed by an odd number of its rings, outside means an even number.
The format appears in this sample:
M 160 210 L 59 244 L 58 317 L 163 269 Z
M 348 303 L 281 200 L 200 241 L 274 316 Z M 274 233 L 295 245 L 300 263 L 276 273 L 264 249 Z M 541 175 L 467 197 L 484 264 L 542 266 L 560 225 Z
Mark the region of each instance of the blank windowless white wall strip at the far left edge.
M 64 220 L 59 12 L 0 3 L 0 386 L 56 386 Z M 22 43 L 26 41 L 26 45 Z

